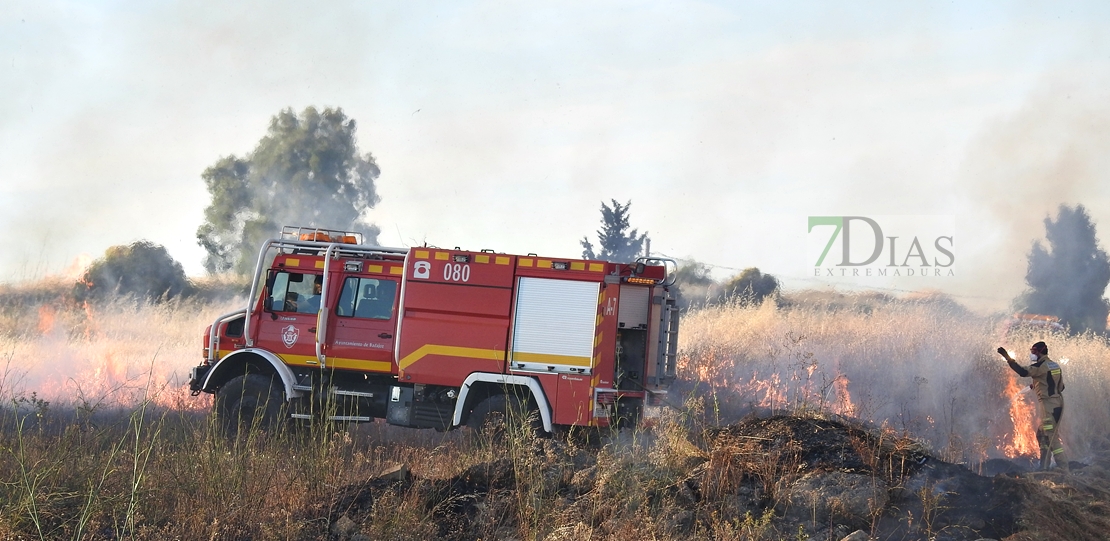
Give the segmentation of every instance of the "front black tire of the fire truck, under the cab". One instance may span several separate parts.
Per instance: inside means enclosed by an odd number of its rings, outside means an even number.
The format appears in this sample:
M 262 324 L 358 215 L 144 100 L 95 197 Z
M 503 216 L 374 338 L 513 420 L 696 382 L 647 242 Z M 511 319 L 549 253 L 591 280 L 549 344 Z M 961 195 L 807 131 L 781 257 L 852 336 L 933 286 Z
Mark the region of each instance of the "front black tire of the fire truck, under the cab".
M 285 411 L 285 397 L 273 375 L 246 374 L 233 378 L 215 393 L 215 418 L 230 439 L 252 431 L 278 429 Z

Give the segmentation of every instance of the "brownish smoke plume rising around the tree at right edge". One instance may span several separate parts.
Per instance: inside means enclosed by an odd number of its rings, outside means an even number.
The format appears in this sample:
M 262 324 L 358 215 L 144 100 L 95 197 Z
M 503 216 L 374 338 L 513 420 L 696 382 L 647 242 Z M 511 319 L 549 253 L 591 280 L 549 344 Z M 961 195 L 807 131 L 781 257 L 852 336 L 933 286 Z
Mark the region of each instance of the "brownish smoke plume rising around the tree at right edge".
M 968 208 L 959 228 L 968 294 L 1015 298 L 1042 220 L 1083 203 L 1096 222 L 1110 207 L 1108 77 L 1058 76 L 975 139 L 962 166 Z M 1073 82 L 1080 80 L 1083 82 Z

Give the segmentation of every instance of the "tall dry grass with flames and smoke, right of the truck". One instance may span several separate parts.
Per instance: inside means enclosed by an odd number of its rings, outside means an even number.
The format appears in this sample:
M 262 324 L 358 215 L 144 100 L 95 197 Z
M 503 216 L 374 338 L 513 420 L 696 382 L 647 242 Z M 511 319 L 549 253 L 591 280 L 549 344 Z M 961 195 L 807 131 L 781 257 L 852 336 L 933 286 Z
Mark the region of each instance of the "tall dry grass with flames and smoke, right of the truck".
M 997 320 L 945 303 L 887 301 L 784 309 L 728 304 L 683 320 L 679 372 L 702 394 L 714 394 L 725 420 L 759 410 L 819 409 L 922 438 L 945 458 L 981 461 L 1013 448 L 1032 423 L 1011 418 L 1011 405 L 1032 411 L 1026 388 L 1007 394 L 1013 374 L 995 349 L 1025 357 L 1045 340 L 1064 363 L 1063 437 L 1082 458 L 1110 430 L 1110 345 L 1102 337 L 1006 334 Z

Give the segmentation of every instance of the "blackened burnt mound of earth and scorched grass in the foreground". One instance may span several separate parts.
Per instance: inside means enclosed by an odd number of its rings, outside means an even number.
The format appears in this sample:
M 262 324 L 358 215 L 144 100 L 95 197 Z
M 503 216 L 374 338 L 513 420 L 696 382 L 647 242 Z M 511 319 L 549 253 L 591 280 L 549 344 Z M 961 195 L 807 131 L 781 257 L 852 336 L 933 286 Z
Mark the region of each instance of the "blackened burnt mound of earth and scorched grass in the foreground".
M 506 452 L 448 479 L 401 467 L 321 502 L 327 527 L 319 533 L 840 540 L 862 530 L 878 540 L 1025 541 L 1110 532 L 1110 474 L 1098 464 L 1066 477 L 996 461 L 979 470 L 1001 472 L 985 477 L 910 439 L 808 417 L 747 419 L 702 439 L 686 454 L 642 461 L 617 444 L 591 451 L 537 440 L 524 454 Z

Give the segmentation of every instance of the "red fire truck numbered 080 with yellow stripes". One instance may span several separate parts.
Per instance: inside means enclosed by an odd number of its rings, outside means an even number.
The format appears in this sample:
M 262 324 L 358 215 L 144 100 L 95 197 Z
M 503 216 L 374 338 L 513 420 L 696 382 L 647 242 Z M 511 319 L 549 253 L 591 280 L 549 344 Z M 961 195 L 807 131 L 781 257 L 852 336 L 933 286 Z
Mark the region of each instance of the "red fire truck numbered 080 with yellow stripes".
M 286 227 L 248 307 L 204 331 L 190 388 L 229 430 L 279 415 L 451 430 L 511 407 L 548 432 L 635 425 L 675 379 L 674 270 Z

